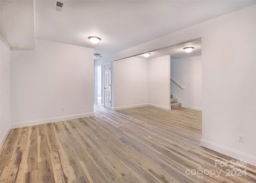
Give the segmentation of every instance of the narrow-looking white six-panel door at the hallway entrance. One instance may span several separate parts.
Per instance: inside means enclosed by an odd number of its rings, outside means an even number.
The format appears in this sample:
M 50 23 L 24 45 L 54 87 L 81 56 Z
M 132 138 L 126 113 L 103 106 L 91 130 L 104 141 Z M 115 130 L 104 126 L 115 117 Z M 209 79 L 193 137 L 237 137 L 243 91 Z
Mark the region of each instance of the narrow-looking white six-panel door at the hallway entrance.
M 104 70 L 105 70 L 104 107 L 111 109 L 111 64 L 104 65 Z

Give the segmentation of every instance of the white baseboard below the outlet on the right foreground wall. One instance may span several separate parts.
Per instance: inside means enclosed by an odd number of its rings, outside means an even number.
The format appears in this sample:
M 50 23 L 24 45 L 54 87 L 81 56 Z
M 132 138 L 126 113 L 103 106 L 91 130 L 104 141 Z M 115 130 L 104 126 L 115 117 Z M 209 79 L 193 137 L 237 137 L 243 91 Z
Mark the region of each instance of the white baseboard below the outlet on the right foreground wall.
M 230 149 L 228 147 L 213 143 L 213 142 L 205 140 L 205 139 L 201 139 L 201 145 L 208 149 L 212 149 L 212 150 L 222 153 L 224 155 L 233 157 L 238 160 L 242 160 L 246 163 L 256 166 L 256 157 L 255 156 L 248 155 L 246 153 L 242 153 L 242 152 L 236 151 L 234 149 Z

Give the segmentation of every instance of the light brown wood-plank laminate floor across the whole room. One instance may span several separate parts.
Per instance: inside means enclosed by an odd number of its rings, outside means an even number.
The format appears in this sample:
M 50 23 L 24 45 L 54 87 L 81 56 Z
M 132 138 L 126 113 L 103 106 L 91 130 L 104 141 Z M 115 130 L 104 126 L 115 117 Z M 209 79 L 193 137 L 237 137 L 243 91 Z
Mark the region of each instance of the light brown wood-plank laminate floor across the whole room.
M 95 107 L 94 117 L 12 129 L 0 183 L 256 182 L 255 166 L 200 146 L 200 111 Z

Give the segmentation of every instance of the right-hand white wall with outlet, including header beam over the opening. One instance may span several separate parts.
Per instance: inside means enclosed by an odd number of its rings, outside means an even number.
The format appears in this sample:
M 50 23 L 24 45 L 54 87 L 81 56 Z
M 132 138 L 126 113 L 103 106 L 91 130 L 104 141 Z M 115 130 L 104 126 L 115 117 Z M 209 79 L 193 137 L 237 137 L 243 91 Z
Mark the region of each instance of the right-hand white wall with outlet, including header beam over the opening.
M 256 165 L 256 5 L 129 48 L 112 60 L 200 37 L 201 145 Z

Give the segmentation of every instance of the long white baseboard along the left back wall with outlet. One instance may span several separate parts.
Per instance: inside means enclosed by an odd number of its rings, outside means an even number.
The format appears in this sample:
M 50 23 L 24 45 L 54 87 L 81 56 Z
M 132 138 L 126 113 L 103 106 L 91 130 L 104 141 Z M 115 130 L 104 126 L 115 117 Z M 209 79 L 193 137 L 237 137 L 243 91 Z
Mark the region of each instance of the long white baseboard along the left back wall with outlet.
M 57 122 L 57 121 L 65 121 L 65 120 L 77 119 L 77 118 L 89 117 L 89 116 L 94 116 L 94 112 L 66 115 L 66 116 L 60 116 L 60 117 L 51 117 L 51 118 L 47 118 L 47 119 L 38 119 L 38 120 L 32 120 L 32 121 L 16 122 L 16 123 L 12 123 L 12 128 L 41 125 L 41 124 L 45 124 L 45 123 L 53 123 L 53 122 Z

